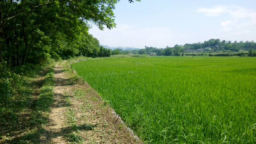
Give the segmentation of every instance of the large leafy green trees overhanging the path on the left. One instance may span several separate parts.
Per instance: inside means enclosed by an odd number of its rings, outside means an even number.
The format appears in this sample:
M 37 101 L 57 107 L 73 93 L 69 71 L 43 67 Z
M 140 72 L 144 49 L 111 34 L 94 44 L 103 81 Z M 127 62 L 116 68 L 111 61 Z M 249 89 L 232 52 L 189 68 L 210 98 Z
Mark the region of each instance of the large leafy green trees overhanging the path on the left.
M 0 1 L 0 62 L 8 67 L 48 58 L 105 57 L 109 50 L 88 34 L 90 23 L 115 27 L 116 0 Z

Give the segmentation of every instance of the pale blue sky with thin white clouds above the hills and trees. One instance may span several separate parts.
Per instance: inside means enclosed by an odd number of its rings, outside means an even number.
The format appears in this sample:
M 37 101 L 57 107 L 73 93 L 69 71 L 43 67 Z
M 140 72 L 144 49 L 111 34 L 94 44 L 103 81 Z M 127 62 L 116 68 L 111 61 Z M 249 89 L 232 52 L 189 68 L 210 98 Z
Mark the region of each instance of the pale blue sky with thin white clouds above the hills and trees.
M 212 38 L 256 42 L 256 0 L 120 0 L 116 28 L 89 33 L 110 47 L 156 48 Z

